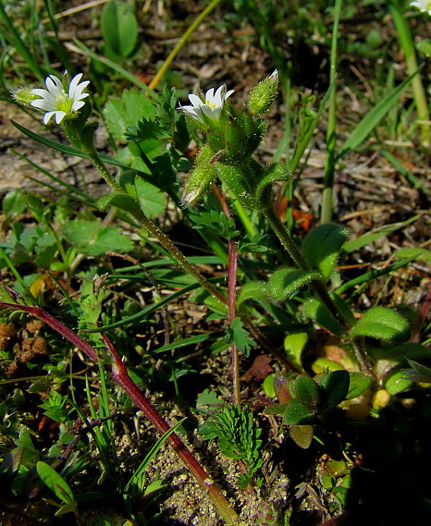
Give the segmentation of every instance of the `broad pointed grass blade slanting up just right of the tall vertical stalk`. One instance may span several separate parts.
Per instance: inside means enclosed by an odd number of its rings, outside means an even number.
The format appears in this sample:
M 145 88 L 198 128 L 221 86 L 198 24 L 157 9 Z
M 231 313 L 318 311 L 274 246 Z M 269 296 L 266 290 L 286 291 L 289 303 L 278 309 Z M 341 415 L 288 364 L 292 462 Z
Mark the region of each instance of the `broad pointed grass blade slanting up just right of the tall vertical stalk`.
M 355 130 L 350 133 L 349 138 L 341 147 L 338 158 L 343 157 L 348 151 L 356 149 L 366 138 L 368 133 L 371 133 L 371 131 L 375 129 L 375 126 L 377 126 L 380 120 L 382 120 L 384 115 L 386 115 L 388 111 L 393 108 L 393 106 L 395 106 L 398 98 L 401 96 L 402 92 L 405 90 L 405 88 L 407 88 L 407 85 L 409 85 L 416 74 L 418 74 L 418 71 L 414 72 L 414 74 L 407 77 L 404 82 L 391 90 L 386 95 L 386 97 L 378 102 L 373 107 L 373 109 L 367 113 L 364 119 L 362 119 L 361 122 L 359 122 L 359 124 L 356 126 Z

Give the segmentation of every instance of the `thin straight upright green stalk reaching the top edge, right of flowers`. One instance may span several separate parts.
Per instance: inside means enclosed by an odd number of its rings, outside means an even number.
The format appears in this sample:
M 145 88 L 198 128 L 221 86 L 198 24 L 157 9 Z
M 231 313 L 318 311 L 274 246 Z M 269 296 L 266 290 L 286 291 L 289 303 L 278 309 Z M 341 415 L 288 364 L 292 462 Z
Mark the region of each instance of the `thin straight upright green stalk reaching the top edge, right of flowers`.
M 335 0 L 334 27 L 332 28 L 331 58 L 330 58 L 330 84 L 335 82 L 336 76 L 336 44 L 339 31 L 339 20 L 341 12 L 341 1 Z M 332 194 L 334 192 L 335 173 L 335 132 L 336 132 L 336 90 L 330 92 L 330 108 L 328 111 L 326 131 L 326 160 L 325 176 L 323 178 L 322 211 L 320 220 L 322 223 L 330 223 L 332 217 Z

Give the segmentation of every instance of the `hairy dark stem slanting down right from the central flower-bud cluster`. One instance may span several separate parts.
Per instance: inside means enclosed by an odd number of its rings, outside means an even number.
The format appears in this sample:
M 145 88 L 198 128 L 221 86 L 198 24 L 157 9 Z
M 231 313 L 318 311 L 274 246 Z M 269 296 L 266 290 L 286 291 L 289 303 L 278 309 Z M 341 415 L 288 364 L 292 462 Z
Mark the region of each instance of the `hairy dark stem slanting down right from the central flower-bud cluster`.
M 304 272 L 308 272 L 309 270 L 311 270 L 307 261 L 305 261 L 304 256 L 302 256 L 300 250 L 295 245 L 290 234 L 284 227 L 284 224 L 281 222 L 278 215 L 275 213 L 274 208 L 269 208 L 268 210 L 263 211 L 263 215 L 266 217 L 266 220 L 268 220 L 270 227 L 275 231 L 277 238 L 279 238 L 284 249 L 286 249 L 286 252 L 293 259 L 295 265 L 301 270 L 304 270 Z M 343 331 L 346 334 L 348 334 L 350 332 L 350 329 L 352 329 L 352 324 L 350 324 L 349 320 L 345 318 L 345 315 L 340 311 L 340 309 L 332 299 L 330 291 L 328 290 L 326 284 L 323 283 L 323 281 L 314 281 L 310 283 L 310 288 L 314 290 L 318 297 L 320 297 L 320 300 L 325 305 L 327 310 L 330 311 L 332 316 L 334 316 L 335 320 L 339 322 L 341 327 L 343 327 Z M 355 347 L 355 354 L 359 361 L 359 365 L 361 365 L 361 369 L 364 370 L 366 374 L 371 375 L 371 363 L 366 357 L 363 339 L 353 338 L 353 344 Z

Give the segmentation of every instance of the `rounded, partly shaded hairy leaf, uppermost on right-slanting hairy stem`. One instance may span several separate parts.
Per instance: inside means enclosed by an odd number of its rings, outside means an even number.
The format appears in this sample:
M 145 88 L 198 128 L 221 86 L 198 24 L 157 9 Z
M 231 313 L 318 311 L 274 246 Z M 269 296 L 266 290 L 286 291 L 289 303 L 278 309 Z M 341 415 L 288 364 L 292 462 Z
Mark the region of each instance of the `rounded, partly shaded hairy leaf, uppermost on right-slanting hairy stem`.
M 321 224 L 307 234 L 302 245 L 302 255 L 312 268 L 320 270 L 323 277 L 328 279 L 348 235 L 348 229 L 337 224 Z

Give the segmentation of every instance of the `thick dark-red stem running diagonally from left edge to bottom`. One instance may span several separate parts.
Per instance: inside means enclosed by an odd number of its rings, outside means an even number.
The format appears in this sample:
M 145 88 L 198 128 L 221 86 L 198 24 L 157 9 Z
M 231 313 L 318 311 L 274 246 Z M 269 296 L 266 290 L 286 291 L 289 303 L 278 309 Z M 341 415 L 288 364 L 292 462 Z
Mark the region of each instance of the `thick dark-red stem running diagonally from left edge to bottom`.
M 0 309 L 8 309 L 10 311 L 24 311 L 29 313 L 35 318 L 39 318 L 44 321 L 47 325 L 52 327 L 59 334 L 64 336 L 67 340 L 73 343 L 76 347 L 81 349 L 87 354 L 87 356 L 97 363 L 97 352 L 91 345 L 86 343 L 80 336 L 77 336 L 70 329 L 67 329 L 62 323 L 53 318 L 51 315 L 42 311 L 39 307 L 19 305 L 13 303 L 0 302 Z M 108 347 L 108 351 L 113 357 L 113 365 L 111 369 L 111 377 L 115 383 L 124 389 L 124 391 L 129 395 L 131 400 L 141 409 L 145 416 L 148 418 L 152 425 L 156 427 L 159 433 L 164 434 L 170 430 L 168 422 L 154 409 L 151 402 L 147 397 L 140 391 L 138 386 L 129 376 L 124 363 L 122 363 L 120 356 L 117 354 L 117 351 L 113 347 L 112 343 L 103 335 L 104 341 Z M 222 495 L 220 488 L 216 484 L 213 484 L 209 480 L 209 475 L 206 473 L 204 468 L 200 463 L 195 459 L 193 454 L 190 453 L 186 445 L 181 438 L 175 433 L 170 434 L 168 437 L 168 442 L 172 446 L 172 449 L 178 454 L 181 460 L 186 464 L 187 468 L 192 472 L 193 476 L 197 480 L 197 483 L 208 493 L 209 498 L 212 500 L 215 507 L 222 518 L 225 519 L 227 524 L 233 524 L 238 518 L 234 509 L 232 509 L 227 502 L 226 498 Z M 208 482 L 207 482 L 208 481 Z

